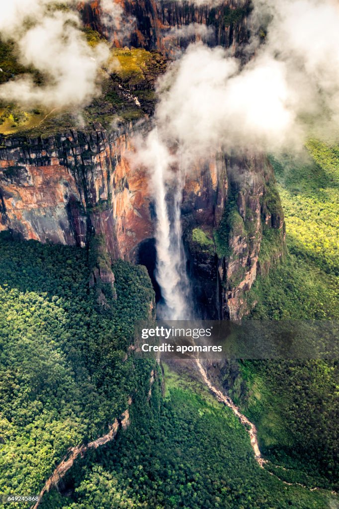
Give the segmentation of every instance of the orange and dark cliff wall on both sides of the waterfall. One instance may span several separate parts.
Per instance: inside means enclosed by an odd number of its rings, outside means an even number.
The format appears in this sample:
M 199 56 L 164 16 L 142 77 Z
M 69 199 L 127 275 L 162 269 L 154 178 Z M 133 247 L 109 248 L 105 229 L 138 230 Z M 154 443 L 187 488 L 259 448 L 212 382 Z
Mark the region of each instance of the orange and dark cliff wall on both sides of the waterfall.
M 88 133 L 0 139 L 0 230 L 79 246 L 95 234 L 111 259 L 138 261 L 138 246 L 153 238 L 155 214 L 147 175 L 129 162 L 134 134 L 131 124 L 112 134 L 97 124 Z M 284 218 L 268 161 L 250 154 L 197 161 L 182 216 L 201 314 L 241 317 L 246 290 L 261 269 L 263 232 L 276 232 L 277 252 L 283 251 Z M 98 270 L 94 282 L 102 279 Z

